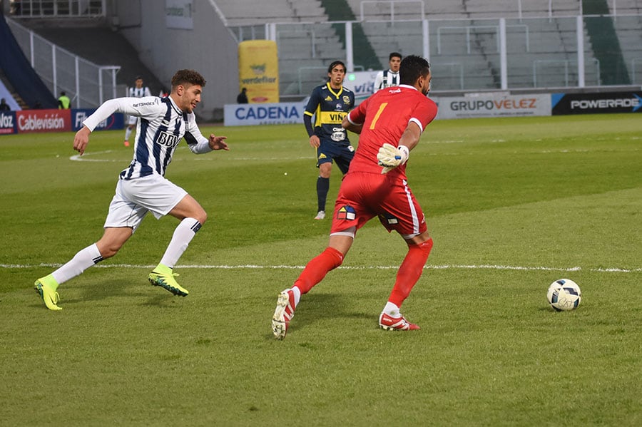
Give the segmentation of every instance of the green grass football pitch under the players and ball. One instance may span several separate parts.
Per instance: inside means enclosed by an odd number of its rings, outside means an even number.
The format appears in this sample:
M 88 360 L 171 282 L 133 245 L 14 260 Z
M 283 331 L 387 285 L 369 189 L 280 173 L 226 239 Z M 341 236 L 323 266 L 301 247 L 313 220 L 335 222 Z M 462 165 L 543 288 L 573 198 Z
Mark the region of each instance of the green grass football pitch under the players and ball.
M 94 133 L 76 161 L 72 133 L 1 136 L 0 425 L 640 426 L 640 117 L 432 123 L 408 167 L 434 238 L 403 307 L 422 329 L 377 329 L 405 245 L 374 220 L 284 341 L 277 294 L 330 227 L 302 125 L 181 145 L 167 176 L 209 214 L 175 269 L 188 297 L 147 282 L 177 224 L 148 215 L 61 285 L 61 312 L 34 280 L 101 236 L 131 148 Z M 546 302 L 561 277 L 574 312 Z

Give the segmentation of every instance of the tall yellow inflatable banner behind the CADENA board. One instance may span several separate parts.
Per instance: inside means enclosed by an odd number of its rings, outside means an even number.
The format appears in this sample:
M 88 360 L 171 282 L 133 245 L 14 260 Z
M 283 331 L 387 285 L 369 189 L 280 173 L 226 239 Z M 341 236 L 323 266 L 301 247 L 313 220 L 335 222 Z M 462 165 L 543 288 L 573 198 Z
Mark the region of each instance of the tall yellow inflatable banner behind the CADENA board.
M 271 40 L 238 43 L 239 91 L 248 89 L 250 103 L 279 102 L 279 59 Z

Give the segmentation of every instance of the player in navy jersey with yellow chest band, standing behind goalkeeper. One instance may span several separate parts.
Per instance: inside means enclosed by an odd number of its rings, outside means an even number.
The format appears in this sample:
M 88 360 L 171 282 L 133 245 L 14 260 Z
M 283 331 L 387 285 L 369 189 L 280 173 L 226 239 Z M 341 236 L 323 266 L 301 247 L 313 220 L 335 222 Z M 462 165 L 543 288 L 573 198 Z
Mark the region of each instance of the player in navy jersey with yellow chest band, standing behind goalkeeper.
M 345 63 L 334 61 L 327 68 L 327 83 L 317 86 L 310 95 L 303 123 L 310 137 L 310 145 L 317 150 L 317 203 L 315 220 L 325 218 L 325 200 L 330 190 L 330 173 L 332 163 L 343 174 L 347 173 L 350 161 L 355 155 L 355 148 L 350 145 L 347 132 L 341 126 L 343 118 L 355 107 L 355 93 L 343 87 Z M 315 123 L 312 125 L 312 116 Z

